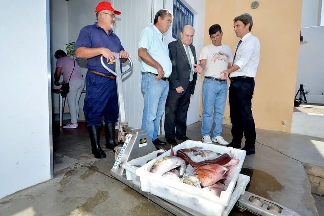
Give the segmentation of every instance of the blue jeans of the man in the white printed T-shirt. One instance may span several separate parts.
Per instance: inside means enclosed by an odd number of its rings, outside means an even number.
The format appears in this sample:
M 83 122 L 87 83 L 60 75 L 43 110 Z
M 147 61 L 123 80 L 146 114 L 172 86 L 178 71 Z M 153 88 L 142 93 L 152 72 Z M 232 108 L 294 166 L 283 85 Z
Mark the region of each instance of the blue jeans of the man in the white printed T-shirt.
M 212 137 L 220 136 L 222 122 L 227 99 L 227 81 L 204 79 L 203 83 L 203 117 L 202 136 L 211 135 L 213 125 L 214 108 L 214 130 Z

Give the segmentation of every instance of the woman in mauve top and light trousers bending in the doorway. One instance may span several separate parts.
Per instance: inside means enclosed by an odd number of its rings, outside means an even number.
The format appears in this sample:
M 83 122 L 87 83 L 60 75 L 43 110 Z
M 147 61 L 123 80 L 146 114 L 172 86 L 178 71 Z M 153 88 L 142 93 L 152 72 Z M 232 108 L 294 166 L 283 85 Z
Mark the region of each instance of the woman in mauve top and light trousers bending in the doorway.
M 59 80 L 62 74 L 63 82 L 69 83 L 70 86 L 70 91 L 66 97 L 68 99 L 68 105 L 70 109 L 71 123 L 64 125 L 63 128 L 77 128 L 79 116 L 79 100 L 82 90 L 85 86 L 80 72 L 80 66 L 75 60 L 68 57 L 63 50 L 57 50 L 54 56 L 57 59 L 56 70 L 54 74 L 54 84 L 60 85 Z

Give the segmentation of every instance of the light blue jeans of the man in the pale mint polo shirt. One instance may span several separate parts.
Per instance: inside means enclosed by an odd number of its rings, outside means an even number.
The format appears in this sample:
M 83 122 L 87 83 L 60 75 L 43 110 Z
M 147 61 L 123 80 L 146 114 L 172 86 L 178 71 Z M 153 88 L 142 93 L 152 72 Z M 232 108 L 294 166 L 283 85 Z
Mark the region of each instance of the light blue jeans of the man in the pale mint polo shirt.
M 144 94 L 142 129 L 153 141 L 158 136 L 160 121 L 169 92 L 169 81 L 156 80 L 156 76 L 153 74 L 143 73 L 142 91 Z

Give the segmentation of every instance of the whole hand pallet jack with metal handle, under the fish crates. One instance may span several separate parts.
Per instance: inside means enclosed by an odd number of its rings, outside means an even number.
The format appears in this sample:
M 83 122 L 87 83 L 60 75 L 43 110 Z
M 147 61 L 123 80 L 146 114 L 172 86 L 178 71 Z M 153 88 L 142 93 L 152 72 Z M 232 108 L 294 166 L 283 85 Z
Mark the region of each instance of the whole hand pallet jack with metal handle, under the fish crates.
M 133 68 L 133 62 L 130 57 L 128 61 L 130 63 L 129 68 L 125 72 L 121 72 L 121 64 L 119 53 L 114 53 L 116 56 L 115 59 L 115 72 L 108 68 L 104 61 L 104 57 L 101 56 L 100 61 L 102 66 L 108 70 L 110 73 L 116 76 L 117 82 L 117 93 L 118 93 L 118 102 L 119 102 L 119 134 L 118 140 L 119 143 L 123 143 L 123 146 L 119 152 L 119 155 L 110 170 L 110 174 L 124 183 L 125 185 L 131 187 L 138 193 L 147 197 L 154 203 L 158 204 L 167 211 L 177 215 L 177 216 L 191 216 L 192 214 L 186 212 L 185 210 L 167 202 L 166 200 L 155 196 L 149 192 L 143 192 L 141 188 L 135 185 L 132 181 L 128 181 L 126 178 L 125 169 L 122 167 L 123 164 L 131 161 L 132 159 L 145 156 L 153 151 L 156 151 L 156 147 L 152 143 L 150 137 L 146 134 L 143 129 L 140 128 L 130 128 L 126 122 L 125 115 L 125 105 L 124 105 L 124 96 L 122 89 L 122 76 L 126 75 Z M 267 200 L 258 195 L 252 194 L 245 191 L 244 195 L 241 195 L 236 204 L 240 211 L 250 211 L 253 214 L 260 216 L 299 216 L 299 214 L 294 211 L 278 204 L 273 201 Z

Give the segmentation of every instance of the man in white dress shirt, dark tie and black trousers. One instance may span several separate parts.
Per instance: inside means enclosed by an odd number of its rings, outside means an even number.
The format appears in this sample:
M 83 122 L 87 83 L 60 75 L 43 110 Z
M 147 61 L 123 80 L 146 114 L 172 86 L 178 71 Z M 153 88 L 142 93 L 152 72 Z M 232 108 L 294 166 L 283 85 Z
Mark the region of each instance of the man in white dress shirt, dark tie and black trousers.
M 255 124 L 252 115 L 252 97 L 254 77 L 259 65 L 260 42 L 250 32 L 252 16 L 244 13 L 234 19 L 234 30 L 239 41 L 233 60 L 233 65 L 224 73 L 224 79 L 231 80 L 229 87 L 230 118 L 233 140 L 228 146 L 240 148 L 245 136 L 246 155 L 255 154 Z

